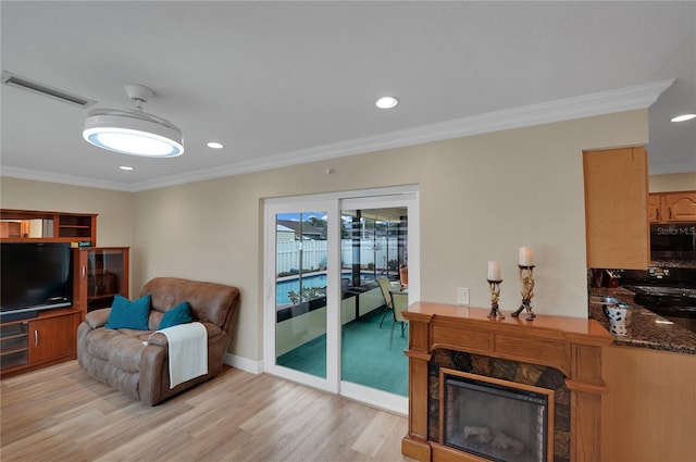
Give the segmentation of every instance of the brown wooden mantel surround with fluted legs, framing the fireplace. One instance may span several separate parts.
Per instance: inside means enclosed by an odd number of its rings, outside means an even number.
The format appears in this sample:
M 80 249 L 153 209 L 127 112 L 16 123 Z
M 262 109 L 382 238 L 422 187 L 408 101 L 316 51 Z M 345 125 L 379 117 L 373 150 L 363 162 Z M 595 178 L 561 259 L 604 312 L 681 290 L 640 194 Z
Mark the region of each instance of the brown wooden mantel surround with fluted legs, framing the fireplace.
M 599 460 L 601 347 L 611 335 L 596 321 L 538 314 L 534 321 L 488 319 L 489 309 L 415 302 L 409 320 L 409 429 L 401 452 L 419 461 L 457 460 L 455 451 L 427 437 L 428 361 L 435 349 L 555 367 L 571 390 L 571 461 Z M 472 460 L 463 457 L 461 460 Z M 481 459 L 475 459 L 481 460 Z

